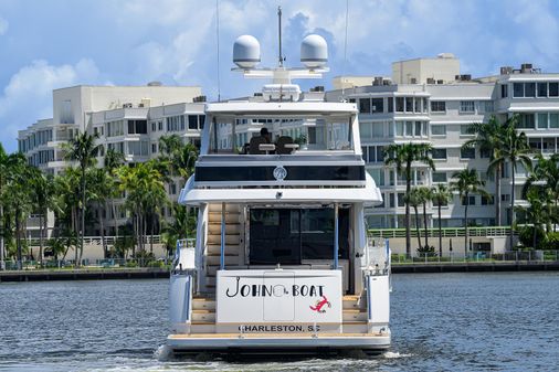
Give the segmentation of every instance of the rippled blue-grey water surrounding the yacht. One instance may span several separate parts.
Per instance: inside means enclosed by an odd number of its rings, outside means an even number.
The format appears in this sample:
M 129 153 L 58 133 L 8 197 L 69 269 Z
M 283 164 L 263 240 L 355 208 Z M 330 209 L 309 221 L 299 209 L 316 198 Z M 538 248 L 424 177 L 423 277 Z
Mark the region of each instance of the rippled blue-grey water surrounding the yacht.
M 558 371 L 559 274 L 394 275 L 393 346 L 359 359 L 170 360 L 167 280 L 0 284 L 0 371 Z

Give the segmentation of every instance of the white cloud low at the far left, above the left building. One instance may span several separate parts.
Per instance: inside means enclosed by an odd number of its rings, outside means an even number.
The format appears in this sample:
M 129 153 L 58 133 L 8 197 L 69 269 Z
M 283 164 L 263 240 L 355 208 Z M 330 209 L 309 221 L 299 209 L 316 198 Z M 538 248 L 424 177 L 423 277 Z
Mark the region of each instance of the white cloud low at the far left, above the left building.
M 52 117 L 52 91 L 99 77 L 95 62 L 80 60 L 75 65 L 50 65 L 44 60 L 33 61 L 12 75 L 0 96 L 0 139 L 12 150 L 18 130 L 38 119 Z

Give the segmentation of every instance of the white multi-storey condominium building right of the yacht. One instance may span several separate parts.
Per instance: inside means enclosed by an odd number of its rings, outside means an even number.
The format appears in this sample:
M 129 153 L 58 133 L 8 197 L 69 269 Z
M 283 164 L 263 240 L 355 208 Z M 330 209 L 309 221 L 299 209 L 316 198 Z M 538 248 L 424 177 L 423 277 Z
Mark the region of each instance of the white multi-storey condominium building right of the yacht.
M 392 144 L 426 142 L 433 146 L 435 170 L 422 163 L 413 164 L 412 185 L 432 187 L 449 183 L 456 171 L 473 168 L 495 194 L 494 178 L 487 177 L 488 153 L 462 149 L 473 138 L 472 123 L 487 121 L 492 115 L 506 120 L 520 115 L 518 130 L 529 138 L 530 146 L 544 155 L 557 152 L 559 138 L 559 74 L 542 73 L 531 64 L 520 68 L 502 67 L 495 76 L 472 78 L 460 74 L 460 62 L 443 53 L 436 59 L 395 62 L 391 78 L 336 77 L 338 89 L 327 92 L 333 102 L 348 99 L 359 108 L 362 156 L 367 170 L 381 188 L 384 202 L 368 211 L 369 227 L 403 227 L 403 174 L 383 164 L 384 149 Z M 450 78 L 451 74 L 454 74 Z M 499 225 L 510 222 L 510 166 L 502 176 L 502 215 L 495 221 L 494 201 L 482 195 L 458 200 L 443 206 L 443 226 L 464 225 L 464 205 L 468 219 L 477 225 Z M 515 174 L 517 203 L 526 170 Z M 437 208 L 429 205 L 429 224 L 437 226 Z

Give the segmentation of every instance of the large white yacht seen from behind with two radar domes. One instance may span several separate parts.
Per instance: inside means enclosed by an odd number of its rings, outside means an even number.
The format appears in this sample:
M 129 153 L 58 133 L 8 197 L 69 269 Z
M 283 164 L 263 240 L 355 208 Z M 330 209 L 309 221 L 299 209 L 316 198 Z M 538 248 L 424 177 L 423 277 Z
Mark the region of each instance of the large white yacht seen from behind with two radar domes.
M 305 67 L 255 68 L 260 44 L 234 45 L 262 94 L 207 105 L 196 172 L 179 202 L 198 213 L 170 278 L 173 352 L 380 352 L 390 347 L 390 251 L 367 237 L 382 202 L 365 171 L 357 107 L 300 93 L 292 78 L 327 71 L 323 38 Z M 324 89 L 323 89 L 324 91 Z

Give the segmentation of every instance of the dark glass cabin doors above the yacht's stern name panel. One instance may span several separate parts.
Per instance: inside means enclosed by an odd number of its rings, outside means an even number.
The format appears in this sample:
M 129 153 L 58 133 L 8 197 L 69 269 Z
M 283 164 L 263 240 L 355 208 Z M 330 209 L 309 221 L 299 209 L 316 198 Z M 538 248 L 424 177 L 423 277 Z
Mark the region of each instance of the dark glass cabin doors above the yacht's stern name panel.
M 339 257 L 348 258 L 349 209 L 338 213 Z M 251 265 L 299 265 L 334 259 L 334 209 L 252 209 Z

